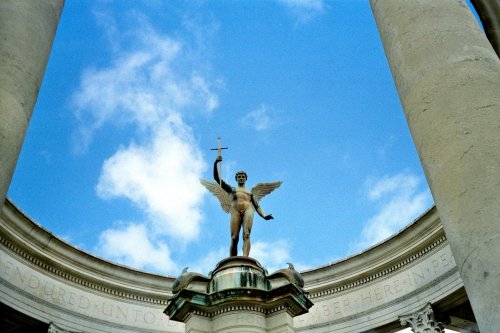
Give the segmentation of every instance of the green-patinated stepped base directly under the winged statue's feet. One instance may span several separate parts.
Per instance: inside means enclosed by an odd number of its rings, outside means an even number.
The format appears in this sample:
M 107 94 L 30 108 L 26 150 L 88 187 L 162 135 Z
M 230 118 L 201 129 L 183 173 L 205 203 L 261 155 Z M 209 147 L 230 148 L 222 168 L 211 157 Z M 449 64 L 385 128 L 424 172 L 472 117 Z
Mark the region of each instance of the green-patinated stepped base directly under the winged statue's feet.
M 209 281 L 182 288 L 164 313 L 171 320 L 186 322 L 192 314 L 215 318 L 231 311 L 263 316 L 286 312 L 293 318 L 308 312 L 313 304 L 306 292 L 283 277 L 273 276 L 253 258 L 229 257 L 217 264 Z

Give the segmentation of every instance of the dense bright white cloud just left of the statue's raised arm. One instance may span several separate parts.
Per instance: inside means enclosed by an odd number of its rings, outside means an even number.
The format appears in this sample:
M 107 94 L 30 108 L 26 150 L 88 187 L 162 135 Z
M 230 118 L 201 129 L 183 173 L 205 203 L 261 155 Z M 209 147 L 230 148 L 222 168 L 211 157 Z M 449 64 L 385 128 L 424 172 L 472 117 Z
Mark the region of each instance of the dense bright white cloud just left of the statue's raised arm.
M 97 193 L 125 197 L 142 208 L 155 234 L 184 240 L 198 236 L 205 169 L 180 119 L 157 129 L 147 145 L 131 143 L 104 162 Z

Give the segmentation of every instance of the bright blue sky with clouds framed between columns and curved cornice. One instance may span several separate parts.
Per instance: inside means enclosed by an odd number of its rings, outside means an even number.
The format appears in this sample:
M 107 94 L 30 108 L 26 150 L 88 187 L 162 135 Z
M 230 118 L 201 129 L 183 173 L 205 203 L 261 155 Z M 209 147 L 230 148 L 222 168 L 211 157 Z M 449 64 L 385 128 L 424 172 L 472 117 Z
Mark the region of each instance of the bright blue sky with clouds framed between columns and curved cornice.
M 326 265 L 432 206 L 368 1 L 68 1 L 9 197 L 90 253 L 208 273 L 229 216 L 200 184 L 282 180 L 251 256 Z M 240 248 L 241 253 L 241 248 Z

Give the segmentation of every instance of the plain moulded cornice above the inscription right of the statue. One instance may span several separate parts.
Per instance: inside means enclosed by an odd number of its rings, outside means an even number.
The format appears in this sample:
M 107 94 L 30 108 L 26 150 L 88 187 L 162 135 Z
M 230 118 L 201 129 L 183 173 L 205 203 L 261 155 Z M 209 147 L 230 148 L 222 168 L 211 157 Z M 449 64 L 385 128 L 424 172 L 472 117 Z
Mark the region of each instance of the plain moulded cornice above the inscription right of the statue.
M 361 253 L 302 272 L 309 298 L 331 297 L 388 278 L 447 245 L 436 208 Z

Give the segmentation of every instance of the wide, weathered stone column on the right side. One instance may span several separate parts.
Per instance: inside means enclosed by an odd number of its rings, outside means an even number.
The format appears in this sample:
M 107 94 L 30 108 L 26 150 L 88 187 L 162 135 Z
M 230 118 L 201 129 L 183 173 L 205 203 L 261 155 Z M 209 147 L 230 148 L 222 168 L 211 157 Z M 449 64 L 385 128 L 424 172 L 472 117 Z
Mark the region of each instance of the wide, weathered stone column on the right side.
M 370 0 L 481 332 L 500 327 L 500 62 L 463 0 Z

